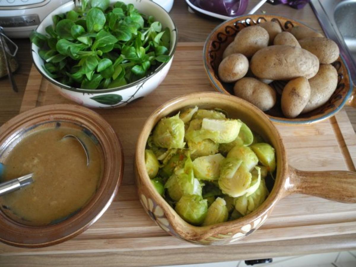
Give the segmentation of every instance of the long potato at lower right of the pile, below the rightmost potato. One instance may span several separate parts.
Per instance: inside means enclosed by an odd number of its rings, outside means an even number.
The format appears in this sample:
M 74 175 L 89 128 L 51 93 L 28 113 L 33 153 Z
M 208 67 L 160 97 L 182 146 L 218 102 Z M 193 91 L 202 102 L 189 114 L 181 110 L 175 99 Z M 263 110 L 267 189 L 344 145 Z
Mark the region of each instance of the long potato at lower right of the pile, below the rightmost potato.
M 320 65 L 318 73 L 311 79 L 310 99 L 302 111 L 307 113 L 324 105 L 334 93 L 337 86 L 337 71 L 331 65 Z

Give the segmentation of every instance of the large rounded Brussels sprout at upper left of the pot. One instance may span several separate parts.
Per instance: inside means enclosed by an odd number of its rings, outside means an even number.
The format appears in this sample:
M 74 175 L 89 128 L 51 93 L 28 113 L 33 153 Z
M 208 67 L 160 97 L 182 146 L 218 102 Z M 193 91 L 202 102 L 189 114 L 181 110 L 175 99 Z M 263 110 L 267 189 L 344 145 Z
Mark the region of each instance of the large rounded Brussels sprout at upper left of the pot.
M 153 142 L 165 148 L 183 148 L 184 122 L 176 116 L 161 119 L 153 130 Z

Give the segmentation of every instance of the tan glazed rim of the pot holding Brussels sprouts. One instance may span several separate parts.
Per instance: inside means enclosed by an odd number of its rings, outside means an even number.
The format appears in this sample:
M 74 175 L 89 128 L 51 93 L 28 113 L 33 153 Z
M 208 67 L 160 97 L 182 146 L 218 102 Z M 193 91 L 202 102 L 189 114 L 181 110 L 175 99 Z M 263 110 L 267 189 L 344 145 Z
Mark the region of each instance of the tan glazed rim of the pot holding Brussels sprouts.
M 145 167 L 145 147 L 147 143 L 147 138 L 152 132 L 153 128 L 157 125 L 158 121 L 164 116 L 177 113 L 179 110 L 186 107 L 197 105 L 204 106 L 209 105 L 207 98 L 217 99 L 215 101 L 226 102 L 231 106 L 234 106 L 236 110 L 248 110 L 251 112 L 244 113 L 254 113 L 258 119 L 251 119 L 255 121 L 256 125 L 261 126 L 261 131 L 265 132 L 265 136 L 268 137 L 270 142 L 273 144 L 273 147 L 276 149 L 276 158 L 277 158 L 277 172 L 276 177 L 279 177 L 275 180 L 273 188 L 269 193 L 267 199 L 259 206 L 256 210 L 252 211 L 250 214 L 236 220 L 226 221 L 224 223 L 208 225 L 208 226 L 194 226 L 192 224 L 184 221 L 176 211 L 167 203 L 167 201 L 159 195 L 157 190 L 154 188 L 150 182 L 150 177 Z M 204 99 L 206 99 L 204 102 Z M 190 100 L 190 101 L 189 101 Z M 189 101 L 190 103 L 185 103 L 180 106 L 182 102 Z M 201 103 L 197 103 L 200 101 Z M 212 103 L 214 104 L 214 103 Z M 242 105 L 241 105 L 242 104 Z M 241 106 L 243 106 L 241 108 Z M 163 116 L 164 115 L 164 116 Z M 146 197 L 151 197 L 160 208 L 163 210 L 164 215 L 166 216 L 169 225 L 171 225 L 174 233 L 169 231 L 169 234 L 183 238 L 185 241 L 200 244 L 201 240 L 204 240 L 213 235 L 227 234 L 229 232 L 240 231 L 242 225 L 251 224 L 254 220 L 268 216 L 271 210 L 274 208 L 279 199 L 283 198 L 286 195 L 286 188 L 284 188 L 285 180 L 287 179 L 288 173 L 288 163 L 287 163 L 287 154 L 282 141 L 281 134 L 277 130 L 276 126 L 269 120 L 269 117 L 256 106 L 252 105 L 248 101 L 240 98 L 235 98 L 232 95 L 221 94 L 218 92 L 201 92 L 201 93 L 192 93 L 183 96 L 178 96 L 174 99 L 167 101 L 166 103 L 159 106 L 155 111 L 145 121 L 140 135 L 138 136 L 136 143 L 136 155 L 135 155 L 135 165 L 136 165 L 136 175 L 138 176 L 138 193 L 146 191 Z M 152 218 L 153 219 L 153 218 Z M 154 219 L 153 219 L 154 220 Z M 258 225 L 259 227 L 260 225 Z M 255 231 L 258 227 L 251 229 L 248 234 Z M 203 245 L 203 244 L 202 244 Z M 209 244 L 204 244 L 209 245 Z

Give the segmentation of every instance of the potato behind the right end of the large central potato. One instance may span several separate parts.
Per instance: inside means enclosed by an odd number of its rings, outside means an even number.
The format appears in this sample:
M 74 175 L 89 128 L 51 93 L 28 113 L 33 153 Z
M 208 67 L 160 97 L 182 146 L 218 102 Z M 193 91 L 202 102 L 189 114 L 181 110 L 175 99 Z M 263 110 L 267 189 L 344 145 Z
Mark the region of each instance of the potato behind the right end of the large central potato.
M 299 40 L 305 50 L 318 57 L 320 64 L 331 64 L 339 58 L 339 47 L 333 40 L 325 37 L 308 37 Z

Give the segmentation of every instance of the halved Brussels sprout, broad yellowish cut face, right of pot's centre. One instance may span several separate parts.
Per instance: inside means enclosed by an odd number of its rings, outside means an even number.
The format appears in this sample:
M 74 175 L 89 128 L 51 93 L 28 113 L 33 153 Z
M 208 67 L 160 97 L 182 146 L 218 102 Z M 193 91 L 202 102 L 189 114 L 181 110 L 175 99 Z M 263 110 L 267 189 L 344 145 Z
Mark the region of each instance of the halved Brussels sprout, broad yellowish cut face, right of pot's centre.
M 221 163 L 219 187 L 230 197 L 240 197 L 251 184 L 251 173 L 246 164 L 238 158 L 226 158 Z

